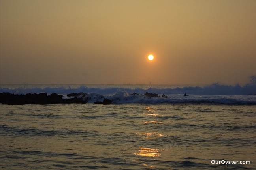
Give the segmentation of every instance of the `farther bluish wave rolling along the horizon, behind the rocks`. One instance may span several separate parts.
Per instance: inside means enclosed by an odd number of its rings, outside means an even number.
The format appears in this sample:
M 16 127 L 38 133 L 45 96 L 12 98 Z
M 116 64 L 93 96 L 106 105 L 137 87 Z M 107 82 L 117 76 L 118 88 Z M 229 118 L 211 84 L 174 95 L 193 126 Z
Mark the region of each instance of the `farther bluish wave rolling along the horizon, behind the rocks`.
M 173 87 L 173 85 L 170 85 Z M 256 84 L 246 84 L 241 86 L 237 85 L 220 85 L 220 84 L 211 84 L 206 86 L 184 86 L 184 87 L 177 87 L 168 88 L 168 86 L 164 86 L 162 88 L 159 86 L 152 85 L 149 88 L 144 88 L 145 86 L 142 85 L 127 85 L 125 87 L 113 85 L 113 86 L 101 86 L 95 85 L 94 87 L 87 87 L 87 86 L 78 86 L 72 88 L 71 86 L 58 86 L 58 87 L 18 87 L 18 88 L 0 88 L 0 93 L 2 92 L 9 92 L 15 94 L 26 94 L 26 93 L 58 93 L 58 94 L 66 94 L 66 93 L 98 93 L 102 95 L 114 94 L 118 91 L 124 91 L 128 93 L 139 93 L 144 94 L 145 92 L 149 93 L 157 93 L 157 94 L 194 94 L 194 95 L 252 95 L 256 94 Z M 147 86 L 146 86 L 147 87 Z

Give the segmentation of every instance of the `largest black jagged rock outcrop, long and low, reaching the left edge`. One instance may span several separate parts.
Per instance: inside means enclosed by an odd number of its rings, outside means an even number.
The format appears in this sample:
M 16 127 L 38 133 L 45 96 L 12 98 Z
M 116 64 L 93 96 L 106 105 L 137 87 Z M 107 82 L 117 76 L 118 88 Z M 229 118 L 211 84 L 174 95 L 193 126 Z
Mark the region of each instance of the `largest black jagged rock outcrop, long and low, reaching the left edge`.
M 40 94 L 11 94 L 11 93 L 0 93 L 0 103 L 9 105 L 24 105 L 24 104 L 58 104 L 58 103 L 86 103 L 83 98 L 74 97 L 71 99 L 62 99 L 63 95 L 52 93 Z

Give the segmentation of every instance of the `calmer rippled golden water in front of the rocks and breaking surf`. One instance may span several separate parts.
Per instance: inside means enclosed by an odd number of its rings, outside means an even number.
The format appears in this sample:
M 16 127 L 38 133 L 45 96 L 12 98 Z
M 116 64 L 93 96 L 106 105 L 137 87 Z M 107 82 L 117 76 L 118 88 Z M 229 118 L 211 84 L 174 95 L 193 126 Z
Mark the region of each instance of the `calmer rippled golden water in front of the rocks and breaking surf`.
M 186 103 L 0 105 L 0 169 L 256 169 L 255 110 Z M 213 165 L 212 159 L 251 164 Z

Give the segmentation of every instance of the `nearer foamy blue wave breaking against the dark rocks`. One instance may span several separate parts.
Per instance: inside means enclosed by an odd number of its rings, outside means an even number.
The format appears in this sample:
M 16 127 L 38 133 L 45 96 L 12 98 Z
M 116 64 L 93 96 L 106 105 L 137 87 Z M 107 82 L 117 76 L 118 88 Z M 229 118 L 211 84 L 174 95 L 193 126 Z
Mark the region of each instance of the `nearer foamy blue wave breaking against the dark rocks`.
M 112 103 L 210 103 L 210 104 L 234 104 L 234 105 L 256 105 L 254 95 L 168 95 L 168 97 L 148 97 L 145 95 L 129 94 L 119 91 L 113 95 L 98 95 L 90 93 L 84 97 L 88 103 L 102 101 L 104 98 L 112 100 Z

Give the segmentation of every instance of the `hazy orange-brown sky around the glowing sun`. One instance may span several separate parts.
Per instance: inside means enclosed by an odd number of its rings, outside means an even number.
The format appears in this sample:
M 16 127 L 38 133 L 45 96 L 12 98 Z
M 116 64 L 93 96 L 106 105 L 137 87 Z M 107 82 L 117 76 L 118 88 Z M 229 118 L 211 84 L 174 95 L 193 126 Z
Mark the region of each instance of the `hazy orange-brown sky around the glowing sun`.
M 0 0 L 0 83 L 245 84 L 256 75 L 255 9 L 256 0 Z

